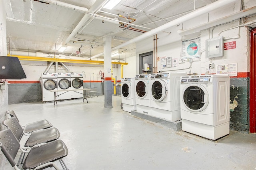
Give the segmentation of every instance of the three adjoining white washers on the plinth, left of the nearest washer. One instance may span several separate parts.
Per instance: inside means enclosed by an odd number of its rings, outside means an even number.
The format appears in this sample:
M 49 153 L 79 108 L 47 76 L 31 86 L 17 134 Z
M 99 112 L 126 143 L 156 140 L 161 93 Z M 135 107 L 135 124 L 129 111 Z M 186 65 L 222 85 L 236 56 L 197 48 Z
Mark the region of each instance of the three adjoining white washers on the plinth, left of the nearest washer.
M 152 115 L 169 121 L 180 120 L 180 76 L 185 73 L 138 74 L 124 78 L 122 84 L 123 110 Z M 126 81 L 135 81 L 127 85 Z M 127 90 L 126 90 L 127 89 Z M 133 89 L 133 90 L 130 90 Z M 132 95 L 128 96 L 129 93 Z M 136 107 L 128 103 L 134 101 Z M 130 108 L 126 110 L 126 105 Z

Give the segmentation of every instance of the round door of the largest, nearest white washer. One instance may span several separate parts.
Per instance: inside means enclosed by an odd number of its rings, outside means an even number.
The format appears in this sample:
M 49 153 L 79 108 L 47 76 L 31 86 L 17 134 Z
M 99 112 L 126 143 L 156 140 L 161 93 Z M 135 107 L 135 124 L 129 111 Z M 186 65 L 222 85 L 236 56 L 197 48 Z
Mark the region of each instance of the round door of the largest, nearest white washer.
M 185 106 L 192 112 L 203 111 L 208 106 L 208 92 L 200 84 L 189 84 L 184 88 L 182 94 Z

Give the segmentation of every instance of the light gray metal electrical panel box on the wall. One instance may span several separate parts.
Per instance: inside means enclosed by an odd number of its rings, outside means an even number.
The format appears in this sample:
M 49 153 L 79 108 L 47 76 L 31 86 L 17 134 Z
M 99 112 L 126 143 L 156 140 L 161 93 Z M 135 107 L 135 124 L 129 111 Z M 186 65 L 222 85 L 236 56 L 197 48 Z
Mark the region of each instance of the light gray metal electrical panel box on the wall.
M 223 37 L 216 37 L 206 40 L 206 58 L 222 57 L 224 56 L 223 50 Z

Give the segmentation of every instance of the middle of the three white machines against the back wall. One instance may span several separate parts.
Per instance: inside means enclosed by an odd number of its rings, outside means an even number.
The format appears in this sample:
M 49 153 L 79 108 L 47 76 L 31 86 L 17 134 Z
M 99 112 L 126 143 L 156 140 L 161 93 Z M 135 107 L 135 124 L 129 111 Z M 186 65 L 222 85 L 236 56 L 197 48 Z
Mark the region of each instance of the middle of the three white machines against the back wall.
M 70 73 L 58 72 L 58 90 L 71 90 Z M 71 91 L 58 92 L 58 100 L 71 99 Z

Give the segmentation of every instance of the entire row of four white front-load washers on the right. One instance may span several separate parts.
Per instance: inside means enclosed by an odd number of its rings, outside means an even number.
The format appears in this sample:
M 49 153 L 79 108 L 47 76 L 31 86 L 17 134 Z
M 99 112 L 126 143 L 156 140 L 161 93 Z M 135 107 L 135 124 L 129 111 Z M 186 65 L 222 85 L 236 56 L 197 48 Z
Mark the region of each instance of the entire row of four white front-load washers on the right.
M 125 111 L 181 120 L 183 131 L 212 140 L 229 134 L 228 74 L 138 74 L 122 79 L 121 84 Z

